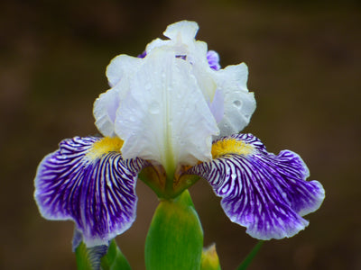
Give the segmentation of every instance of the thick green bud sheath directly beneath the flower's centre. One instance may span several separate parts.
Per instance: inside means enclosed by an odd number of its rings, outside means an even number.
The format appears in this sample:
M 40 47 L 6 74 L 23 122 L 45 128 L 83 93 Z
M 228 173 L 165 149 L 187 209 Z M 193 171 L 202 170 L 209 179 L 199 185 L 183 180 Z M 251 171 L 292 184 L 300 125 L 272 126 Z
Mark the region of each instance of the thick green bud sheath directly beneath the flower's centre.
M 162 200 L 145 241 L 147 270 L 200 268 L 203 229 L 188 190 L 174 200 Z

